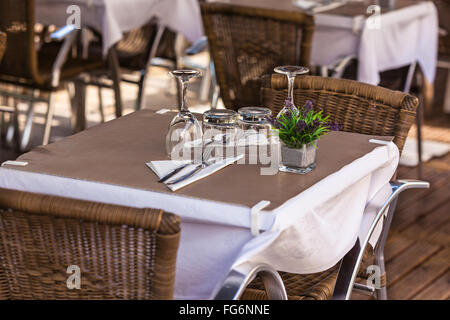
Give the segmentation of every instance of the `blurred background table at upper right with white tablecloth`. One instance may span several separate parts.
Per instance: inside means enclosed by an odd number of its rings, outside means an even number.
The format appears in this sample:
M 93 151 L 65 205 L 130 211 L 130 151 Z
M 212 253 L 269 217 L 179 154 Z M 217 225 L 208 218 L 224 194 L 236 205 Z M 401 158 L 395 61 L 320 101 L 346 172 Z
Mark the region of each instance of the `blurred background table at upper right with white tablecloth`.
M 236 5 L 301 11 L 292 0 L 211 0 Z M 397 0 L 395 10 L 382 9 L 380 29 L 367 24 L 366 10 L 374 1 L 352 1 L 314 15 L 311 64 L 329 66 L 339 59 L 358 59 L 358 81 L 377 85 L 379 73 L 419 62 L 434 81 L 438 19 L 431 1 Z

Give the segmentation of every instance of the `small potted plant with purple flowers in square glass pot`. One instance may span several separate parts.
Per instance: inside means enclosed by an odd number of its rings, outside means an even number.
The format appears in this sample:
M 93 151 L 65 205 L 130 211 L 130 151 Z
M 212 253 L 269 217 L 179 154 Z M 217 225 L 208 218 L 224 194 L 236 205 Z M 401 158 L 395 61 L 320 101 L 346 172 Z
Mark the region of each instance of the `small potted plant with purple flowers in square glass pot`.
M 316 167 L 317 143 L 330 131 L 340 130 L 340 126 L 329 120 L 323 111 L 315 111 L 312 101 L 303 107 L 295 107 L 286 100 L 286 108 L 276 118 L 268 121 L 281 141 L 281 161 L 279 170 L 305 174 Z

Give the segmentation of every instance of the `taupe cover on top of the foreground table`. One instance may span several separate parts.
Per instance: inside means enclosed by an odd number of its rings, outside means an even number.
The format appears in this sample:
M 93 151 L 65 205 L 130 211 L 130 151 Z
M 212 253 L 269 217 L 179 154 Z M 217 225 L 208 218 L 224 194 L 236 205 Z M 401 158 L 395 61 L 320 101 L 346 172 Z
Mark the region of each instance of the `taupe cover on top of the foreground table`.
M 274 209 L 379 146 L 369 139 L 392 139 L 332 132 L 320 140 L 317 168 L 306 175 L 278 172 L 262 176 L 259 165 L 233 164 L 172 192 L 157 182 L 156 175 L 145 163 L 167 159 L 165 135 L 173 116 L 173 113 L 160 115 L 150 110 L 135 112 L 37 147 L 17 159 L 28 162 L 25 167 L 5 167 L 248 207 L 269 200 L 268 209 Z

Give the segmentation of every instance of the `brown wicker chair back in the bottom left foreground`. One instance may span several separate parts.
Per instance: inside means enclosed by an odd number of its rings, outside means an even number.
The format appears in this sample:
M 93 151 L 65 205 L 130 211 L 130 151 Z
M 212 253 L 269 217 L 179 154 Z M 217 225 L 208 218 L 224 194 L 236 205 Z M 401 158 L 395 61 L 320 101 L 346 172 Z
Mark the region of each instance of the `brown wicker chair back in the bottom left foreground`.
M 0 299 L 171 299 L 179 239 L 162 210 L 0 189 Z

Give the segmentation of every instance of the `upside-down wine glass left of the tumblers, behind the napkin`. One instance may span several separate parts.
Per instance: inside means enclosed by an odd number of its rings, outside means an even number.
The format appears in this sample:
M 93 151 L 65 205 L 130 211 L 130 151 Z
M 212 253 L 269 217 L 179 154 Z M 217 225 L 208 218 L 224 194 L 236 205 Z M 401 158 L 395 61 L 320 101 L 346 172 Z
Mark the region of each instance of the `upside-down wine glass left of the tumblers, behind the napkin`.
M 195 70 L 174 70 L 169 72 L 171 76 L 177 78 L 181 85 L 181 107 L 180 112 L 173 118 L 169 125 L 166 136 L 166 151 L 171 159 L 179 159 L 180 153 L 188 143 L 202 139 L 202 126 L 200 122 L 189 111 L 186 103 L 186 91 L 191 78 L 200 76 Z

